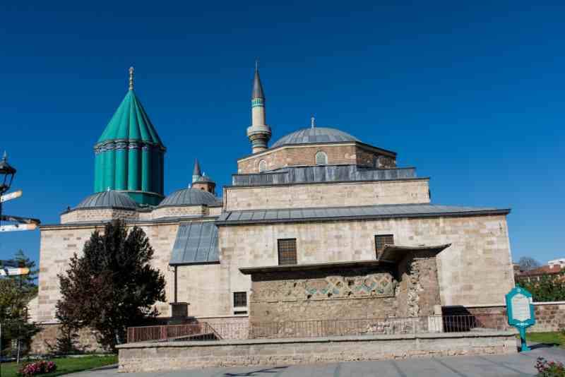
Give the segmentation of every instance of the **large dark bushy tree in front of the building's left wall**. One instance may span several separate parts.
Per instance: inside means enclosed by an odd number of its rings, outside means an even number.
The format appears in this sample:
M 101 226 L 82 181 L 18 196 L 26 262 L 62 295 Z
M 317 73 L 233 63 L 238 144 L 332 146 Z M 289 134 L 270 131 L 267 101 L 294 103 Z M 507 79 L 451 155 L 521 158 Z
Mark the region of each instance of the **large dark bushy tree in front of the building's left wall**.
M 145 232 L 113 221 L 103 234 L 93 232 L 83 256 L 71 258 L 59 275 L 62 298 L 57 319 L 69 330 L 93 328 L 107 349 L 126 340 L 129 326 L 142 325 L 159 313 L 155 301 L 165 301 L 165 276 L 151 267 L 153 248 Z

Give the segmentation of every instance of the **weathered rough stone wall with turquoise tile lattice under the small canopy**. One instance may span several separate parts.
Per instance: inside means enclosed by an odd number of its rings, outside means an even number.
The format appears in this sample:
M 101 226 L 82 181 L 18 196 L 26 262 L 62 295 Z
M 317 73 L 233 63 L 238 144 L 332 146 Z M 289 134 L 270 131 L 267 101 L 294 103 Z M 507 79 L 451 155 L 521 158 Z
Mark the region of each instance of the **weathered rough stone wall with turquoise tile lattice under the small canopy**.
M 249 322 L 397 316 L 393 276 L 381 268 L 256 274 Z

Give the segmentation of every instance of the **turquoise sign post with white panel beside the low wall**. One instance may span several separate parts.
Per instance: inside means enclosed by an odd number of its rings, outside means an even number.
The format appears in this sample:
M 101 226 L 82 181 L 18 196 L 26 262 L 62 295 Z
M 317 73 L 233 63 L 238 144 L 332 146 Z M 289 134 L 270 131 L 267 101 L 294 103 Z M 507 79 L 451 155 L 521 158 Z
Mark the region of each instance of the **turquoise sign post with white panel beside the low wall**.
M 521 352 L 530 351 L 530 347 L 525 342 L 525 329 L 535 325 L 532 294 L 522 287 L 513 287 L 506 294 L 506 311 L 508 311 L 508 324 L 520 332 Z

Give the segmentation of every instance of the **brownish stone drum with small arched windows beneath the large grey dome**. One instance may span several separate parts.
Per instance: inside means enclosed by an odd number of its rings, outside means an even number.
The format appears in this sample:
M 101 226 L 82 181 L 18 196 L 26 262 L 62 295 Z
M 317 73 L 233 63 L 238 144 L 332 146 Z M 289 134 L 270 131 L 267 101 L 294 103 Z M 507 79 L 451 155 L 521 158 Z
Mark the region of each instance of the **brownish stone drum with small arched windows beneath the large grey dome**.
M 393 155 L 384 155 L 372 148 L 355 143 L 343 143 L 285 146 L 275 150 L 267 150 L 238 160 L 237 172 L 239 174 L 258 173 L 261 160 L 266 162 L 267 170 L 315 165 L 316 153 L 320 151 L 328 155 L 328 164 L 330 165 L 359 164 L 364 167 L 374 167 L 374 157 L 382 156 L 386 158 L 379 160 L 379 167 L 396 167 L 396 158 Z

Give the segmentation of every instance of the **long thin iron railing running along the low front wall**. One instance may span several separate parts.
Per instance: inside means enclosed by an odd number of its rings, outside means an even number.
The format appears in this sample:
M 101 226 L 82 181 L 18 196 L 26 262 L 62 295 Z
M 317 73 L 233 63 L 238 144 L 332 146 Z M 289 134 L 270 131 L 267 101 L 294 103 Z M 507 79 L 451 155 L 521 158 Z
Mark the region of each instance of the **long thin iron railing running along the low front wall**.
M 129 328 L 128 342 L 465 333 L 508 329 L 506 316 L 501 314 L 259 323 L 239 321 L 213 325 L 203 322 Z

